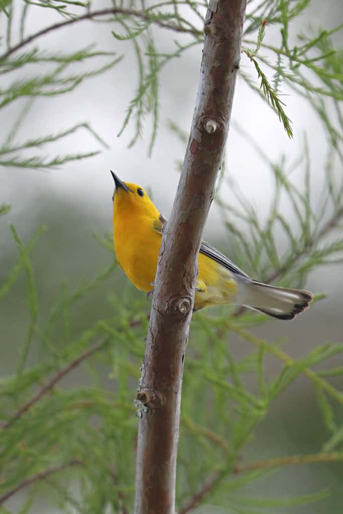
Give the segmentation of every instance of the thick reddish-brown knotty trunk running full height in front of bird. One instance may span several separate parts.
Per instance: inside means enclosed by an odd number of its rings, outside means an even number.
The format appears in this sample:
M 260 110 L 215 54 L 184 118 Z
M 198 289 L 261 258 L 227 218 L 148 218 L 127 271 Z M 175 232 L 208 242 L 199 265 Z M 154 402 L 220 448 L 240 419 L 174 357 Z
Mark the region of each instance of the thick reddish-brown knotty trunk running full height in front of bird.
M 158 259 L 140 410 L 136 514 L 175 514 L 183 363 L 194 302 L 196 258 L 227 139 L 246 0 L 211 0 L 200 84 L 173 209 Z

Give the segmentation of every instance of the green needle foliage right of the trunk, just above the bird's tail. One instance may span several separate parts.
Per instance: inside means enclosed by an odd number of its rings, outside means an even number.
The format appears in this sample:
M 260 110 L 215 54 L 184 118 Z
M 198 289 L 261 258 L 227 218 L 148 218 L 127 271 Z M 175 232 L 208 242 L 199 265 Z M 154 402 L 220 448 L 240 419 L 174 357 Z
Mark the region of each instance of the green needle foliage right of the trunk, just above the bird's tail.
M 343 129 L 343 125 L 341 125 Z M 248 144 L 253 141 L 237 124 Z M 331 139 L 331 136 L 329 136 Z M 256 149 L 256 144 L 252 142 Z M 228 203 L 220 196 L 216 201 L 221 207 L 224 223 L 231 234 L 230 245 L 235 259 L 243 260 L 245 268 L 252 276 L 273 282 L 276 279 L 285 286 L 306 282 L 310 271 L 316 266 L 342 262 L 341 238 L 327 242 L 330 230 L 339 226 L 343 216 L 342 177 L 326 173 L 321 177 L 322 196 L 320 201 L 311 203 L 311 159 L 306 139 L 302 155 L 295 163 L 288 163 L 285 156 L 279 162 L 272 162 L 260 148 L 257 148 L 264 164 L 268 164 L 275 183 L 274 200 L 268 216 L 261 225 L 256 209 L 252 207 L 244 193 L 239 190 L 234 177 L 226 173 L 224 181 L 230 186 L 232 199 Z M 337 141 L 337 152 L 330 151 L 326 170 L 330 170 L 332 160 L 341 163 L 341 142 Z M 290 178 L 298 172 L 302 186 L 295 186 Z M 292 206 L 294 217 L 287 219 L 281 208 L 281 200 L 287 198 Z M 237 206 L 238 204 L 238 206 Z M 242 228 L 241 227 L 245 227 Z M 276 244 L 276 236 L 283 233 L 286 247 L 282 254 Z M 246 259 L 248 262 L 246 263 Z

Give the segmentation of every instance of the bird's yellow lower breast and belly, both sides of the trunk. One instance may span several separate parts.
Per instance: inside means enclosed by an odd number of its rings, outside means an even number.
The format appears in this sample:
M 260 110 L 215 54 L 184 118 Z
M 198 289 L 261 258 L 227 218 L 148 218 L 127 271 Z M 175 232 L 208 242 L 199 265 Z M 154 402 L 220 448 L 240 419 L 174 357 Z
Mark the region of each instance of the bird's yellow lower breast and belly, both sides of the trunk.
M 141 226 L 137 232 L 132 239 L 124 230 L 115 230 L 114 246 L 119 265 L 125 274 L 137 289 L 148 292 L 153 289 L 161 236 L 150 226 L 148 231 Z M 227 268 L 199 253 L 198 269 L 194 299 L 196 310 L 230 303 L 234 299 L 237 284 Z

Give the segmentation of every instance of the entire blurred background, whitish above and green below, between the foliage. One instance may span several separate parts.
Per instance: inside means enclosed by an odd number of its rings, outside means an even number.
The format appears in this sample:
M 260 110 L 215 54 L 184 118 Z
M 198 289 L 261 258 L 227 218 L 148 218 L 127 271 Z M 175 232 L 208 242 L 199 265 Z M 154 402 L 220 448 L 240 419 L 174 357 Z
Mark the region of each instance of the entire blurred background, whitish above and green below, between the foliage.
M 322 2 L 312 2 L 306 11 L 306 17 L 302 16 L 296 20 L 292 28 L 294 33 L 304 24 L 333 27 L 337 19 L 342 18 L 343 8 L 340 0 L 329 4 L 330 7 L 324 8 Z M 97 8 L 101 8 L 102 5 L 105 3 L 97 2 Z M 28 32 L 53 23 L 55 19 L 56 14 L 47 9 L 42 10 L 39 18 L 32 10 L 28 18 Z M 2 22 L 5 23 L 4 20 Z M 273 37 L 273 27 L 270 27 L 266 38 L 273 41 Z M 39 137 L 45 133 L 56 133 L 79 121 L 90 121 L 101 138 L 109 144 L 109 149 L 82 162 L 68 163 L 55 171 L 0 168 L 0 204 L 5 202 L 11 205 L 10 213 L 0 219 L 0 286 L 6 281 L 9 271 L 19 258 L 9 229 L 10 224 L 15 226 L 24 243 L 30 240 L 37 226 L 45 225 L 48 228 L 31 256 L 37 283 L 39 319 L 42 324 L 60 295 L 63 281 L 66 282 L 68 290 L 71 290 L 95 277 L 100 269 L 110 266 L 113 261 L 113 253 L 101 246 L 94 237 L 94 232 L 102 235 L 105 232 L 111 234 L 112 231 L 113 181 L 110 169 L 115 170 L 123 180 L 134 181 L 150 188 L 154 203 L 168 217 L 178 180 L 176 160 L 182 159 L 184 153 L 184 146 L 170 131 L 168 121 L 172 120 L 183 130 L 188 131 L 201 59 L 200 48 L 196 46 L 189 50 L 183 59 L 173 61 L 161 73 L 159 131 L 152 157 L 149 159 L 149 120 L 143 138 L 133 149 L 127 148 L 131 139 L 130 125 L 120 138 L 116 137 L 137 78 L 136 68 L 132 64 L 135 58 L 132 48 L 114 40 L 111 31 L 101 24 L 85 23 L 75 26 L 73 30 L 53 33 L 47 36 L 44 44 L 51 51 L 56 51 L 61 49 L 62 38 L 63 47 L 68 50 L 86 46 L 96 40 L 103 47 L 118 54 L 124 52 L 125 59 L 106 74 L 85 81 L 73 93 L 55 99 L 33 100 L 19 133 L 20 139 L 25 140 L 28 136 Z M 161 48 L 167 48 L 173 40 L 173 34 L 158 33 L 157 39 Z M 341 39 L 337 38 L 336 44 L 341 45 Z M 32 68 L 34 66 L 39 69 L 42 65 L 32 65 Z M 243 69 L 250 66 L 244 56 L 241 66 Z M 291 91 L 284 93 L 290 94 Z M 5 137 L 8 127 L 26 101 L 19 100 L 3 111 L 0 137 Z M 287 160 L 292 162 L 302 152 L 303 133 L 306 131 L 312 162 L 313 202 L 321 196 L 322 169 L 327 149 L 320 121 L 299 96 L 291 94 L 286 97 L 285 102 L 295 132 L 292 141 L 288 140 L 275 114 L 251 93 L 242 80 L 238 80 L 226 166 L 249 200 L 254 203 L 261 219 L 266 215 L 266 206 L 273 198 L 273 182 L 268 167 L 251 147 L 249 139 L 256 141 L 270 159 L 276 161 L 284 153 Z M 249 135 L 248 140 L 239 130 L 235 130 L 235 123 L 244 127 Z M 98 148 L 101 148 L 98 142 L 86 131 L 81 130 L 66 140 L 51 145 L 51 153 L 75 153 Z M 341 173 L 341 170 L 338 170 L 338 173 Z M 223 182 L 221 197 L 231 199 L 230 194 L 229 184 Z M 284 214 L 291 219 L 294 216 L 291 206 L 286 203 Z M 335 235 L 339 234 L 339 230 L 341 229 L 338 229 Z M 221 211 L 216 204 L 210 212 L 205 238 L 230 255 L 230 240 L 222 223 Z M 282 248 L 281 237 L 279 244 Z M 254 334 L 264 340 L 284 340 L 284 351 L 294 359 L 306 355 L 324 342 L 342 340 L 341 264 L 317 269 L 318 271 L 310 274 L 306 287 L 315 293 L 327 292 L 327 299 L 314 304 L 293 322 L 270 320 L 254 328 Z M 2 377 L 11 375 L 15 370 L 19 347 L 25 338 L 29 321 L 25 289 L 26 279 L 22 272 L 8 295 L 0 299 Z M 81 333 L 98 319 L 113 316 L 114 307 L 108 301 L 113 291 L 121 291 L 123 304 L 139 302 L 141 308 L 149 310 L 149 304 L 146 305 L 142 300 L 143 293 L 136 291 L 123 276 L 122 271 L 117 269 L 75 306 L 70 320 L 71 338 L 73 333 Z M 227 307 L 226 310 L 229 315 L 230 308 Z M 221 313 L 225 313 L 226 310 L 222 310 Z M 190 344 L 191 348 L 196 348 L 193 336 L 191 332 Z M 58 339 L 59 334 L 55 334 L 55 337 Z M 60 337 L 61 345 L 65 344 L 62 327 Z M 247 352 L 247 343 L 233 337 L 231 350 L 237 359 L 241 359 Z M 39 345 L 32 346 L 28 356 L 29 364 L 33 365 L 39 361 L 39 352 Z M 266 362 L 268 365 L 265 366 L 265 374 L 268 378 L 273 376 L 280 366 L 273 359 L 267 359 Z M 343 365 L 342 355 L 333 357 L 330 365 Z M 103 366 L 102 377 L 107 387 L 112 389 L 114 386 L 109 379 L 110 372 L 111 370 Z M 77 369 L 67 377 L 63 386 L 86 387 L 86 380 L 87 376 L 83 371 Z M 331 379 L 331 382 L 337 389 L 342 389 L 341 376 Z M 133 398 L 134 394 L 133 385 L 129 397 Z M 341 407 L 336 415 L 343 423 Z M 327 429 L 318 410 L 313 385 L 301 375 L 272 403 L 267 416 L 258 425 L 254 437 L 245 447 L 241 455 L 242 462 L 288 454 L 314 453 L 320 450 L 327 438 Z M 342 480 L 342 463 L 290 466 L 277 470 L 261 481 L 251 483 L 247 486 L 247 494 L 281 498 L 313 493 L 329 487 L 330 497 L 309 506 L 292 507 L 292 512 L 338 514 L 342 511 L 343 505 Z M 24 490 L 16 495 L 9 505 L 15 510 L 25 497 Z M 51 506 L 47 492 L 46 497 L 43 495 L 35 504 L 35 512 L 52 514 L 60 510 Z M 199 512 L 219 514 L 228 510 L 206 506 L 201 507 Z

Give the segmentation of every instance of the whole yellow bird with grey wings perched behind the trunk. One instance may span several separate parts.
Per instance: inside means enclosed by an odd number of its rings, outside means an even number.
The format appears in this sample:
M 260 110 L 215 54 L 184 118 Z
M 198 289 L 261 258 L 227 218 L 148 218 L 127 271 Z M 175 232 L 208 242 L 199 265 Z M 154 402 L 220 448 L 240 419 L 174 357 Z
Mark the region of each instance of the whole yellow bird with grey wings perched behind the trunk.
M 120 267 L 142 291 L 151 291 L 161 244 L 163 216 L 146 191 L 123 182 L 112 171 L 113 238 Z M 281 320 L 291 320 L 309 306 L 313 295 L 250 279 L 223 253 L 205 241 L 198 254 L 194 309 L 233 303 L 256 309 Z

